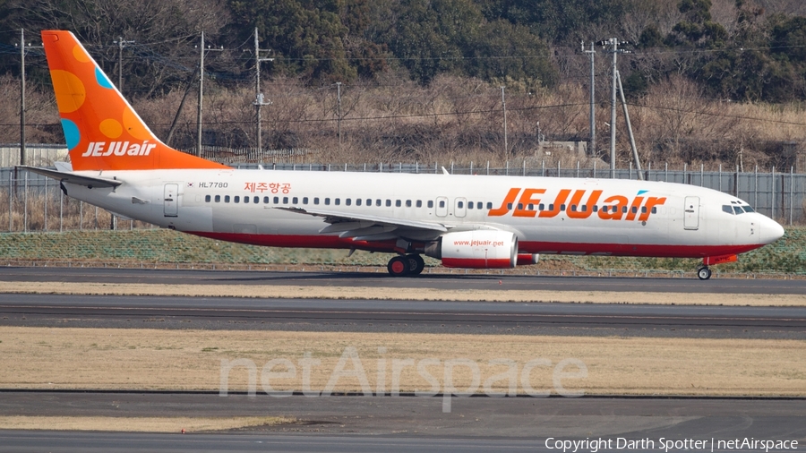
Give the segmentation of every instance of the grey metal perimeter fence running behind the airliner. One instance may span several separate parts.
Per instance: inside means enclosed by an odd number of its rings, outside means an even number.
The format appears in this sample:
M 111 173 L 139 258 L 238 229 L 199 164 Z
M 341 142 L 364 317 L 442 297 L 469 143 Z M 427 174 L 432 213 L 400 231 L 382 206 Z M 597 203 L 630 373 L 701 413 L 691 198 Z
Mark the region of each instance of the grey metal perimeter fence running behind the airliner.
M 453 163 L 397 164 L 294 164 L 270 165 L 228 164 L 231 167 L 275 171 L 339 171 L 382 173 L 442 173 L 442 167 L 452 175 L 512 175 L 544 177 L 608 178 L 609 167 L 582 168 L 546 167 L 527 160 L 507 163 L 505 167 L 459 167 Z M 784 225 L 806 222 L 806 175 L 794 173 L 793 168 L 781 172 L 775 167 L 767 171 L 706 171 L 703 167 L 670 169 L 648 166 L 643 171 L 647 181 L 691 184 L 732 194 L 748 201 L 756 210 Z M 631 168 L 618 169 L 614 177 L 636 179 L 638 173 Z M 42 175 L 18 167 L 0 168 L 0 232 L 65 231 L 87 229 L 151 228 L 150 224 L 116 218 L 105 209 L 64 195 L 59 183 Z

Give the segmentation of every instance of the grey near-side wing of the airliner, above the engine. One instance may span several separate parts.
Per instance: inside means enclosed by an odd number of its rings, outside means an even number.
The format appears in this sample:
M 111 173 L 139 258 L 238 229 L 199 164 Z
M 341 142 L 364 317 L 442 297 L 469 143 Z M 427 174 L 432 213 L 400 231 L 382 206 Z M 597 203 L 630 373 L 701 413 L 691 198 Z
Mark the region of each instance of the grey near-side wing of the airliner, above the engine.
M 326 209 L 307 209 L 298 207 L 275 207 L 274 209 L 287 210 L 297 214 L 322 217 L 329 226 L 325 226 L 320 233 L 341 233 L 341 237 L 352 237 L 354 240 L 381 240 L 398 235 L 392 233 L 397 229 L 420 230 L 444 233 L 448 228 L 442 224 L 407 220 L 405 218 L 390 218 L 371 216 L 366 214 L 338 212 Z

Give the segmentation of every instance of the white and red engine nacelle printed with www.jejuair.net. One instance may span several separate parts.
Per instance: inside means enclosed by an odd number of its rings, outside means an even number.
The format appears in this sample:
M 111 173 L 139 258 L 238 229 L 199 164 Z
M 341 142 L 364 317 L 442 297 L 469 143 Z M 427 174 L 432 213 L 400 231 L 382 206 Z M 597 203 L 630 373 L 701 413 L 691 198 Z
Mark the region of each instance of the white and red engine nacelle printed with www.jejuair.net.
M 425 255 L 442 260 L 447 268 L 514 268 L 518 261 L 518 237 L 498 230 L 448 233 L 427 244 Z

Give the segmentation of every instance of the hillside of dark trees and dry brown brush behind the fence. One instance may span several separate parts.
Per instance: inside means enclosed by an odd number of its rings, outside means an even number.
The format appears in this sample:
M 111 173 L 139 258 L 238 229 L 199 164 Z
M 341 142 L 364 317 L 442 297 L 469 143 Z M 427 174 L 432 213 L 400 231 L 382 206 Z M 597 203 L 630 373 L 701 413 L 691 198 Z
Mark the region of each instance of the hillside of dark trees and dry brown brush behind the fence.
M 579 42 L 611 37 L 631 43 L 619 70 L 645 162 L 787 167 L 787 143 L 806 135 L 800 0 L 5 0 L 0 142 L 19 141 L 21 28 L 34 43 L 39 30 L 73 30 L 110 78 L 122 74 L 124 95 L 160 137 L 176 117 L 172 144 L 184 149 L 195 141 L 201 31 L 223 47 L 205 58 L 203 142 L 254 145 L 255 29 L 270 49 L 261 56 L 274 58 L 262 64 L 262 144 L 306 150 L 307 161 L 500 165 L 533 157 L 541 140 L 585 141 Z M 605 157 L 610 55 L 596 50 Z M 28 138 L 63 141 L 41 51 L 26 61 Z M 625 133 L 618 149 L 626 166 Z

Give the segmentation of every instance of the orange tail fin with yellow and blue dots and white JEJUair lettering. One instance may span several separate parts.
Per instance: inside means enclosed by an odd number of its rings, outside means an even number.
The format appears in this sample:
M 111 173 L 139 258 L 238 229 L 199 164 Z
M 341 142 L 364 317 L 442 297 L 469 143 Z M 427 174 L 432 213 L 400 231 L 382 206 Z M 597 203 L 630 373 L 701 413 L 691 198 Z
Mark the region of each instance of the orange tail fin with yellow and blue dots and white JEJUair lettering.
M 73 170 L 227 168 L 159 141 L 73 33 L 42 42 Z

